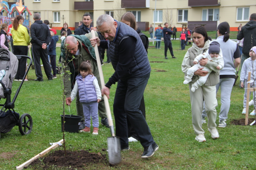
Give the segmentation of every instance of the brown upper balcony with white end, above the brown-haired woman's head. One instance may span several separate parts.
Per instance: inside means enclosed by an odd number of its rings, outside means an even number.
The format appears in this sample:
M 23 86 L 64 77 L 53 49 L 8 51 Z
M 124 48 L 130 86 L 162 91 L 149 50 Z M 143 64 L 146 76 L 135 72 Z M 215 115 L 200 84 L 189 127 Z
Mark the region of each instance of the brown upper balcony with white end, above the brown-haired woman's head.
M 149 0 L 121 0 L 122 8 L 149 8 Z

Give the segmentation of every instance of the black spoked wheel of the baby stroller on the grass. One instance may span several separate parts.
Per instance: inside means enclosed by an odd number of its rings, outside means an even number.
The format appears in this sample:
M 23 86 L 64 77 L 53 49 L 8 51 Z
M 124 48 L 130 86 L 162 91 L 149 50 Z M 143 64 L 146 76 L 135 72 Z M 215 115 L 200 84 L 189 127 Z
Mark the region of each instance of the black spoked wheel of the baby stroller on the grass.
M 32 117 L 25 113 L 21 115 L 19 120 L 19 130 L 21 135 L 28 135 L 32 131 L 33 121 Z

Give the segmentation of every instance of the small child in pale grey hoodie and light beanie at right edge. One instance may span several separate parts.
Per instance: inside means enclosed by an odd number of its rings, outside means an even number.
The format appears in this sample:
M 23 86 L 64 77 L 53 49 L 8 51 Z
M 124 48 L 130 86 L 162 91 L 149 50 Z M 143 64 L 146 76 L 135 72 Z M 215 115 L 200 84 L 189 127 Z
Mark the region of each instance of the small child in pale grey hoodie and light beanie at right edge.
M 250 57 L 244 60 L 241 73 L 240 73 L 240 84 L 241 87 L 244 88 L 244 85 L 248 81 L 248 72 L 251 72 L 251 80 L 254 80 L 254 83 L 252 82 L 250 87 L 256 87 L 256 46 L 252 47 L 249 53 Z M 250 92 L 251 93 L 251 92 Z M 253 104 L 255 101 L 255 95 L 253 93 Z M 247 87 L 244 88 L 244 108 L 242 111 L 242 114 L 245 114 L 246 112 L 246 97 L 247 97 Z M 251 102 L 251 101 L 250 101 Z M 249 105 L 250 105 L 249 102 Z M 252 104 L 252 105 L 253 105 Z M 255 115 L 255 109 L 250 113 L 250 115 Z

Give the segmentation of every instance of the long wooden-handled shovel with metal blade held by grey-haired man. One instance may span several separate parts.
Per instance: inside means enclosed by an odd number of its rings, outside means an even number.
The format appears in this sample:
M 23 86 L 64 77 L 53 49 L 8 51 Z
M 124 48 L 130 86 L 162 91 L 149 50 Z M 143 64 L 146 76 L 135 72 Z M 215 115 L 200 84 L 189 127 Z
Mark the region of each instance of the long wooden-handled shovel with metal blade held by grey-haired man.
M 92 38 L 95 38 L 95 33 L 93 30 L 91 30 L 92 33 Z M 104 77 L 103 77 L 103 71 L 101 68 L 101 63 L 100 63 L 100 55 L 98 51 L 97 44 L 94 47 L 94 51 L 96 54 L 96 59 L 97 59 L 97 64 L 98 64 L 98 69 L 100 73 L 100 83 L 101 87 L 105 85 L 104 82 Z M 108 103 L 108 97 L 104 94 L 103 95 L 105 107 L 106 107 L 106 112 L 107 112 L 107 117 L 108 117 L 108 125 L 111 133 L 111 137 L 108 137 L 108 162 L 111 165 L 117 165 L 121 162 L 121 144 L 120 144 L 120 138 L 115 136 L 115 131 L 114 131 L 114 124 L 110 112 L 110 107 Z

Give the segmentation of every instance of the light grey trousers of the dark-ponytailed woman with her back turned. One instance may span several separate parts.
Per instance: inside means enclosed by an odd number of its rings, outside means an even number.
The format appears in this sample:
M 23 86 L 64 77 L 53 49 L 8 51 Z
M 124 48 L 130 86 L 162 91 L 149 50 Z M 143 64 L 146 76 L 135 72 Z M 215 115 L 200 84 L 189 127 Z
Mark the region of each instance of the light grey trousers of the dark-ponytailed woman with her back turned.
M 220 88 L 220 120 L 224 120 L 228 118 L 228 111 L 230 107 L 230 96 L 232 92 L 232 88 L 234 85 L 234 78 L 220 78 L 220 83 L 216 85 L 216 93 Z M 203 110 L 202 117 L 206 117 L 206 112 Z

